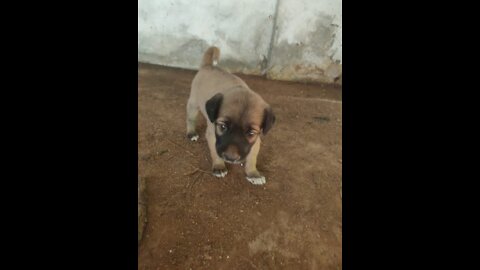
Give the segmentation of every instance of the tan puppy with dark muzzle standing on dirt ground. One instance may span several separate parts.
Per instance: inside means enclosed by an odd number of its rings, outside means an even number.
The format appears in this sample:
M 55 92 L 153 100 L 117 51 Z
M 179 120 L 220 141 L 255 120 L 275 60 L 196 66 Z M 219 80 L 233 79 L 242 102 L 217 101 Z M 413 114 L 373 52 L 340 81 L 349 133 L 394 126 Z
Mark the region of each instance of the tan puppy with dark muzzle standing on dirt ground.
M 207 119 L 206 139 L 216 177 L 227 175 L 225 162 L 245 162 L 247 180 L 265 184 L 257 170 L 260 135 L 267 134 L 275 115 L 257 93 L 237 76 L 216 64 L 220 50 L 210 47 L 203 56 L 200 70 L 192 82 L 187 104 L 187 137 L 198 140 L 195 122 L 198 112 Z

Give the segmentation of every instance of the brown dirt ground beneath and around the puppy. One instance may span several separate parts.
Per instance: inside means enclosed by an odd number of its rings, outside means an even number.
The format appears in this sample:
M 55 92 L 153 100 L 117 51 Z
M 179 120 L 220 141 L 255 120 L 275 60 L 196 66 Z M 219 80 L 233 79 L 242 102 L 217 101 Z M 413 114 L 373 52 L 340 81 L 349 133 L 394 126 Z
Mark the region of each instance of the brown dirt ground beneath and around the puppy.
M 147 217 L 138 269 L 342 269 L 342 90 L 239 75 L 276 123 L 250 184 L 243 167 L 212 176 L 200 116 L 185 136 L 194 71 L 139 64 L 139 176 Z

